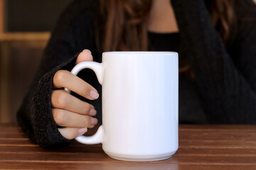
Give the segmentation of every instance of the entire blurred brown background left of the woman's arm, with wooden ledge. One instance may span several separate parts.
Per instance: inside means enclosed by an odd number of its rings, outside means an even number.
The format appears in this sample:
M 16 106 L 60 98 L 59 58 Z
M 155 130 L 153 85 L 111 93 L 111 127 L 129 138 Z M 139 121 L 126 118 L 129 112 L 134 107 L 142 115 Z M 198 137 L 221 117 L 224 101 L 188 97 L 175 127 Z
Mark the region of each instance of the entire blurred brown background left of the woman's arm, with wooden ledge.
M 73 0 L 0 0 L 0 122 L 16 122 L 60 13 Z

